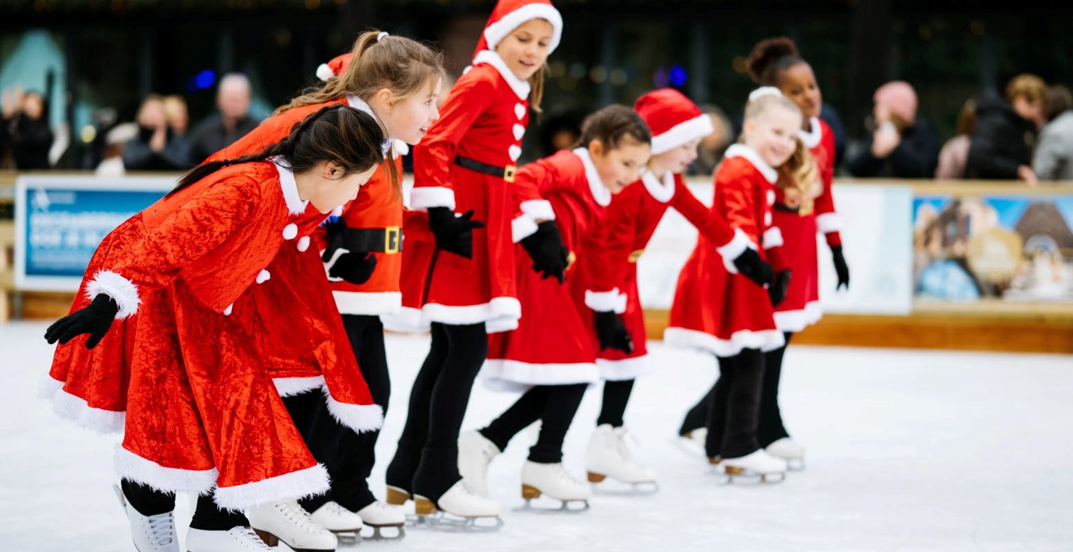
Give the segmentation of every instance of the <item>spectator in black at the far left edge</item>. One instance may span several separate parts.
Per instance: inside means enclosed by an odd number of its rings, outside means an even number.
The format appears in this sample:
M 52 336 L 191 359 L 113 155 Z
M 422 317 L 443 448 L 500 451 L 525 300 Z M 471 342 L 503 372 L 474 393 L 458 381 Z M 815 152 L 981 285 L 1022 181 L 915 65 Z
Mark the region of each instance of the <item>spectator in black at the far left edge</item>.
M 0 142 L 11 151 L 15 168 L 26 170 L 48 169 L 48 149 L 53 145 L 53 131 L 48 128 L 45 99 L 38 92 L 23 92 L 21 87 L 4 90 L 0 105 Z

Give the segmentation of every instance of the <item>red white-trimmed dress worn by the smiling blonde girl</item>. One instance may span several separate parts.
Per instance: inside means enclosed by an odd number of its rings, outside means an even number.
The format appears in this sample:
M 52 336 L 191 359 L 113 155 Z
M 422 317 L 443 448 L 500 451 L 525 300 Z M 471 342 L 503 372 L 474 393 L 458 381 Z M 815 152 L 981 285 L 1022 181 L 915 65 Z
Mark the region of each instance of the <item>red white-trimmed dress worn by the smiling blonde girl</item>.
M 771 227 L 777 178 L 777 171 L 759 154 L 734 144 L 716 171 L 711 208 L 752 243 L 762 243 L 761 257 L 780 271 L 784 266 L 777 249 L 782 236 Z M 741 274 L 727 272 L 721 256 L 703 235 L 678 276 L 663 340 L 717 357 L 733 357 L 747 348 L 769 351 L 784 343 L 775 325 L 767 290 Z

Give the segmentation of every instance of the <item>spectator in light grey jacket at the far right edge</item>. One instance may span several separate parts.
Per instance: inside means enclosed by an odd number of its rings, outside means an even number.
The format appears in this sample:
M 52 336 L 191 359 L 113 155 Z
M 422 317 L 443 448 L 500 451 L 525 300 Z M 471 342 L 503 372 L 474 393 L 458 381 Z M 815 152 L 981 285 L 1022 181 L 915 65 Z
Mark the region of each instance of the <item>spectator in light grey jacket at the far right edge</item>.
M 1047 122 L 1040 131 L 1032 170 L 1041 180 L 1073 180 L 1073 95 L 1064 86 L 1047 88 Z

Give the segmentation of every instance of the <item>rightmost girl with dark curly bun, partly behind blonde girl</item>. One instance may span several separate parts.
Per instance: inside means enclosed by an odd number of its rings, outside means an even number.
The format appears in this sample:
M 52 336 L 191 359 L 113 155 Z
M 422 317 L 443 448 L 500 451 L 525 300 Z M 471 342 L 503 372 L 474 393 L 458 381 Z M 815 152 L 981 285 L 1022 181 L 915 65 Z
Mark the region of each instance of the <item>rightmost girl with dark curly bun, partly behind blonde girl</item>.
M 800 58 L 793 41 L 787 38 L 761 41 L 753 47 L 748 67 L 753 81 L 762 86 L 778 88 L 802 111 L 805 122 L 797 134 L 812 154 L 819 175 L 819 178 L 808 181 L 780 179 L 776 190 L 773 219 L 782 232 L 783 250 L 793 278 L 787 288 L 785 299 L 775 308 L 775 324 L 789 345 L 794 333 L 815 323 L 821 316 L 817 274 L 818 232 L 824 235 L 831 248 L 838 276 L 836 289 L 849 289 L 850 286 L 850 268 L 842 256 L 840 223 L 831 193 L 835 174 L 835 135 L 820 119 L 823 105 L 820 86 L 812 68 Z M 804 465 L 805 448 L 787 433 L 779 410 L 779 379 L 784 352 L 785 345 L 765 353 L 758 438 L 768 453 L 788 461 L 791 467 L 799 467 Z M 710 397 L 702 398 L 690 410 L 682 422 L 681 435 L 690 435 L 694 430 L 704 427 L 709 401 Z M 699 433 L 696 438 L 704 435 Z

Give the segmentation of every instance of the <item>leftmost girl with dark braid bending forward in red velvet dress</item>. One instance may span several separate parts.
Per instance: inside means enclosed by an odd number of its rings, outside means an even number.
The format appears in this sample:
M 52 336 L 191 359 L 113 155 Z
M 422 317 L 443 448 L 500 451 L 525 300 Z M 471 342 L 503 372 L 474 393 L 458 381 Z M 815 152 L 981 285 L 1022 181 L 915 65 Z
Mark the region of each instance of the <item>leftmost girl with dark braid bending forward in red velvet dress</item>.
M 330 106 L 255 155 L 192 170 L 104 238 L 71 314 L 49 326 L 46 338 L 61 344 L 55 381 L 97 389 L 68 377 L 94 374 L 72 362 L 126 380 L 116 468 L 138 550 L 178 550 L 176 492 L 202 495 L 186 548 L 203 552 L 268 550 L 241 510 L 327 489 L 326 471 L 273 389 L 258 338 L 232 315 L 256 311 L 249 289 L 293 247 L 295 221 L 309 204 L 328 213 L 356 195 L 382 160 L 382 140 L 372 117 Z M 326 282 L 305 292 L 330 301 Z M 308 331 L 293 338 L 320 351 L 332 337 Z M 359 374 L 328 379 L 339 412 L 357 428 L 379 426 L 380 409 Z M 327 537 L 307 548 L 334 550 Z

